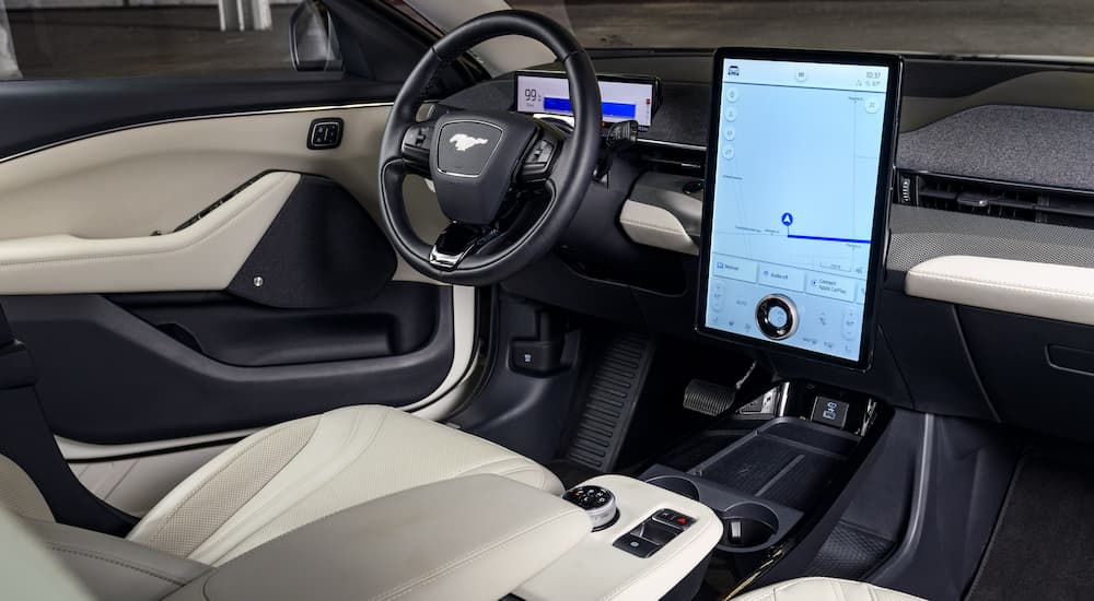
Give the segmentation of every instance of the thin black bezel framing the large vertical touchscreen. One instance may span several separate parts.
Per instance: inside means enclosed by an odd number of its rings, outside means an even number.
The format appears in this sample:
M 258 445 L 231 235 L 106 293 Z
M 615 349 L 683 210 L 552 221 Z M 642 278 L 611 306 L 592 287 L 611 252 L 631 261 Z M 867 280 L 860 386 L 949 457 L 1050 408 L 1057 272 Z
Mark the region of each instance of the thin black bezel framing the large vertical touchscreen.
M 866 297 L 862 314 L 862 332 L 859 341 L 859 358 L 848 360 L 805 349 L 789 346 L 771 340 L 736 334 L 707 327 L 707 296 L 710 285 L 710 249 L 711 231 L 714 216 L 714 190 L 718 187 L 715 172 L 718 169 L 717 154 L 719 143 L 719 125 L 721 118 L 722 98 L 722 64 L 728 58 L 775 60 L 792 62 L 818 62 L 830 64 L 861 64 L 887 67 L 888 81 L 885 94 L 884 120 L 886 127 L 882 131 L 882 148 L 880 168 L 877 169 L 877 186 L 875 191 L 874 222 L 870 236 L 870 260 L 866 268 Z M 703 186 L 702 238 L 699 251 L 699 285 L 697 286 L 696 332 L 723 342 L 743 344 L 760 350 L 777 351 L 781 354 L 800 356 L 822 363 L 866 370 L 873 361 L 874 338 L 876 331 L 877 293 L 884 275 L 884 259 L 888 246 L 888 213 L 892 203 L 893 182 L 896 173 L 896 139 L 900 113 L 900 82 L 904 76 L 904 59 L 897 55 L 874 52 L 840 52 L 828 50 L 794 50 L 773 48 L 719 48 L 714 51 L 713 69 L 711 71 L 710 119 L 707 135 L 706 185 Z

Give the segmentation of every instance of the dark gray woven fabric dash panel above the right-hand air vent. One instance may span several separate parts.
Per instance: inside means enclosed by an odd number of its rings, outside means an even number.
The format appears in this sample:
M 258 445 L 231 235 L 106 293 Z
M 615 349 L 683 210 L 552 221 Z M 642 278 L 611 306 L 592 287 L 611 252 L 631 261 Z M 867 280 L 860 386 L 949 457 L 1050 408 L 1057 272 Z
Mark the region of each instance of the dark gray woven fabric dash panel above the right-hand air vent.
M 978 106 L 901 134 L 897 165 L 1094 190 L 1094 113 Z

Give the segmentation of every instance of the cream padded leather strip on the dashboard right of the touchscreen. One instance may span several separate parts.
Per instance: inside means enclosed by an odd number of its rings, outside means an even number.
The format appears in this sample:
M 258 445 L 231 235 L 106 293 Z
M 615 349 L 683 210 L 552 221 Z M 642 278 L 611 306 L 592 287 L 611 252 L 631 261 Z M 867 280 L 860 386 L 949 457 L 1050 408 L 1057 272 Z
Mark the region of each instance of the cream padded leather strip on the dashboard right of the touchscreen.
M 920 298 L 1094 326 L 1094 269 L 938 257 L 911 268 L 904 291 Z

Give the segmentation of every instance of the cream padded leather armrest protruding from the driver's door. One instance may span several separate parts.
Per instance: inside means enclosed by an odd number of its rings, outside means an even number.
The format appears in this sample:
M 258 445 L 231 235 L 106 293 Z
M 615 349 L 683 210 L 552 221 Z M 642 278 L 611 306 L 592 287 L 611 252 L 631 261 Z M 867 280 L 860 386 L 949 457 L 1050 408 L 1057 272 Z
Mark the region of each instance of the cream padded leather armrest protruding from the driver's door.
M 160 236 L 0 240 L 0 294 L 223 290 L 299 181 L 266 174 L 197 223 Z

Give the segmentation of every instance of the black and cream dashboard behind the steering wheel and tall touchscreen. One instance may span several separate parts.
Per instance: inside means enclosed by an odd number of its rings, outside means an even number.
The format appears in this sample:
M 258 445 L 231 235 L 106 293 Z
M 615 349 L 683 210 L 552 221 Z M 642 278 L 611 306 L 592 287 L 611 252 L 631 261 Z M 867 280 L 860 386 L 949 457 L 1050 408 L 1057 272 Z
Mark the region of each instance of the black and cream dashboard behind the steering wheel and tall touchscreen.
M 710 210 L 712 55 L 591 56 L 602 73 L 659 78 L 660 108 L 638 144 L 590 188 L 558 250 L 503 287 L 710 345 L 695 326 Z M 515 97 L 508 75 L 444 103 L 512 109 Z M 900 105 L 870 369 L 750 343 L 729 349 L 781 376 L 898 406 L 1094 439 L 1085 426 L 1094 408 L 1071 401 L 1094 386 L 1094 64 L 907 56 Z M 777 141 L 749 146 L 740 138 L 752 111 L 737 110 L 734 161 L 758 152 L 781 157 Z M 808 190 L 817 193 L 847 186 L 815 179 Z M 798 207 L 771 209 L 753 219 L 790 213 L 790 227 L 805 235 L 865 239 L 858 226 L 835 231 L 821 221 L 805 229 Z M 850 262 L 846 279 L 856 280 Z

